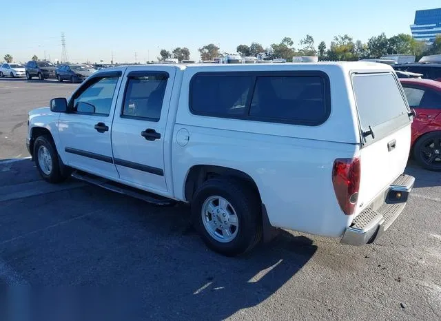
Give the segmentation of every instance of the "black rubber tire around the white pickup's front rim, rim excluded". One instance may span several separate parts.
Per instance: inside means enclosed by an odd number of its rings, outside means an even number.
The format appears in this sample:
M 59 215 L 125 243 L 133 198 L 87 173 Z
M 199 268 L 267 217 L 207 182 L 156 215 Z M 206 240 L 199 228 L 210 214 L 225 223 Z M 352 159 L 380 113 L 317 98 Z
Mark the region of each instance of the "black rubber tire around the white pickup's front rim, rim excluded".
M 50 173 L 45 173 L 45 170 L 41 168 L 39 149 L 42 147 L 47 149 L 50 154 L 50 163 L 52 165 L 52 170 Z M 50 135 L 41 135 L 35 140 L 34 160 L 41 177 L 49 183 L 61 183 L 63 180 L 69 177 L 70 172 L 68 170 L 65 170 L 64 174 L 61 173 L 57 148 L 55 147 Z

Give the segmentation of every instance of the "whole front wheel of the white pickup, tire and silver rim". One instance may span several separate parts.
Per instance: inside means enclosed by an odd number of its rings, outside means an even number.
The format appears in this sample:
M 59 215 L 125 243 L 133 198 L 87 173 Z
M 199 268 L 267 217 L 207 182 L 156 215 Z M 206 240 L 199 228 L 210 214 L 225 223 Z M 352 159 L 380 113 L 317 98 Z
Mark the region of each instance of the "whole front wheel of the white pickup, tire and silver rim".
M 68 171 L 61 173 L 57 148 L 48 135 L 38 136 L 34 143 L 35 164 L 41 177 L 49 183 L 61 183 L 68 178 Z

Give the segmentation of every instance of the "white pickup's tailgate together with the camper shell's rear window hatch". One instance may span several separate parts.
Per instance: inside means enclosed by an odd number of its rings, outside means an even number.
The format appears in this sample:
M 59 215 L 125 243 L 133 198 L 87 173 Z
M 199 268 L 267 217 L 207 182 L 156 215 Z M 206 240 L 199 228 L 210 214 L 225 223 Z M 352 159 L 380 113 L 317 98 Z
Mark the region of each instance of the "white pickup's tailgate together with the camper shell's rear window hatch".
M 352 75 L 362 133 L 359 214 L 406 167 L 411 147 L 411 116 L 400 82 L 393 73 Z

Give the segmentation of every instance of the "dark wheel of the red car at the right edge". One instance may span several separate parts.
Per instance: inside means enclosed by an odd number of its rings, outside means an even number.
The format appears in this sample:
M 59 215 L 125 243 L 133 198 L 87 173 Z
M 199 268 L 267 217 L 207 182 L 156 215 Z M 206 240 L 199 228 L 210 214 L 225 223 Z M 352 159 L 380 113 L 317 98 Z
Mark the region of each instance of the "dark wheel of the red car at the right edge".
M 441 172 L 441 132 L 431 132 L 418 138 L 413 145 L 413 158 L 421 167 Z

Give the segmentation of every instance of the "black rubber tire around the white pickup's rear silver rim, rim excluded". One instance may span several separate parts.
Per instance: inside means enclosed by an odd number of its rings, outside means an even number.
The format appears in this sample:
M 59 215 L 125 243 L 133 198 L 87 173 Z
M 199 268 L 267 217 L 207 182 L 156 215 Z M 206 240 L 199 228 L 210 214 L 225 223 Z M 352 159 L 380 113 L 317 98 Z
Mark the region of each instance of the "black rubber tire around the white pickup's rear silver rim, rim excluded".
M 237 234 L 229 242 L 216 240 L 205 228 L 202 214 L 203 205 L 213 196 L 225 198 L 236 212 L 238 218 Z M 247 184 L 234 180 L 234 178 L 210 179 L 198 188 L 192 200 L 192 221 L 207 247 L 224 256 L 238 256 L 250 251 L 262 237 L 260 198 Z

